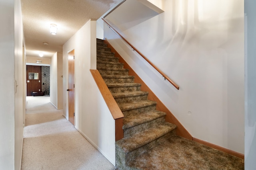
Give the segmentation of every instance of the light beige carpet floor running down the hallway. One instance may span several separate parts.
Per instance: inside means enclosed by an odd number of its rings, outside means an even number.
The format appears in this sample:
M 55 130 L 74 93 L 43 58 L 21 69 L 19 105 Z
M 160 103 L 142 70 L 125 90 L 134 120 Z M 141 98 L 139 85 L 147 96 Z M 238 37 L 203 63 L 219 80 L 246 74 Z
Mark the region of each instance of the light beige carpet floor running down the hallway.
M 50 103 L 48 96 L 28 96 L 22 170 L 114 170 Z

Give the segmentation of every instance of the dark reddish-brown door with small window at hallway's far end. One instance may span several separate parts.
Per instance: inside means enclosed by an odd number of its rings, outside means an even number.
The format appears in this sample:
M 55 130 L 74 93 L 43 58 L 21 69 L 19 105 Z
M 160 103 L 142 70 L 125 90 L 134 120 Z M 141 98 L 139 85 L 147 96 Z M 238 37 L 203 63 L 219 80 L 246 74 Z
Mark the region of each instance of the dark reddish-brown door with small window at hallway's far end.
M 32 96 L 31 92 L 40 92 L 42 90 L 42 66 L 26 66 L 27 74 L 27 96 Z M 38 77 L 36 77 L 38 73 Z

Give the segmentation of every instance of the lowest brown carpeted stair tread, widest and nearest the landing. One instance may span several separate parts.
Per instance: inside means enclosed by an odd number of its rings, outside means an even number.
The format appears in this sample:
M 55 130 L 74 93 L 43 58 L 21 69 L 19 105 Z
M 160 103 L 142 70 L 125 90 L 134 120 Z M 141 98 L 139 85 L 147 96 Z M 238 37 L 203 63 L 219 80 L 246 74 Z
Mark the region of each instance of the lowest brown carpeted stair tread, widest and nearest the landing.
M 116 145 L 122 148 L 125 153 L 128 153 L 158 139 L 176 129 L 176 127 L 177 126 L 172 123 L 164 122 L 155 127 L 146 129 L 143 133 L 137 133 L 116 141 Z

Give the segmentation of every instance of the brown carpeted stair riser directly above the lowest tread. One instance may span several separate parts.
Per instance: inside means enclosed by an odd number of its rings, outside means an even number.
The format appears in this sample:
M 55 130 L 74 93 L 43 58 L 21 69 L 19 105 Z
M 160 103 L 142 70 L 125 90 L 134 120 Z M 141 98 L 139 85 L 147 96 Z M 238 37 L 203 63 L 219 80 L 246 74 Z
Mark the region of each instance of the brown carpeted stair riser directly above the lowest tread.
M 134 127 L 130 127 L 128 129 L 124 129 L 124 137 L 133 135 L 134 133 L 141 133 L 142 131 L 149 129 L 150 127 L 154 127 L 155 125 L 157 125 L 158 123 L 162 123 L 165 121 L 165 117 L 159 117 L 157 119 L 154 119 L 152 121 L 134 126 Z

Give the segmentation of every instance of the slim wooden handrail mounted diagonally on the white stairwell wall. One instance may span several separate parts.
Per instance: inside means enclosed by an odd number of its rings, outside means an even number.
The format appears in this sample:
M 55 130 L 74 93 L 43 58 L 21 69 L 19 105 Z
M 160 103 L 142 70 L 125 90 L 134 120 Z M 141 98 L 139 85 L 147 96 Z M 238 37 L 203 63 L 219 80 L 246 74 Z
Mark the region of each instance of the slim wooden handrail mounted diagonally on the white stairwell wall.
M 134 49 L 139 55 L 141 55 L 141 57 L 143 57 L 152 67 L 154 67 L 160 74 L 162 74 L 162 76 L 164 77 L 164 79 L 168 80 L 176 89 L 180 89 L 180 87 L 174 83 L 168 76 L 166 76 L 166 74 L 164 74 L 159 68 L 157 68 L 153 63 L 151 63 L 151 61 L 149 61 L 142 53 L 140 53 L 140 51 L 138 51 L 131 43 L 129 43 L 120 33 L 118 33 L 118 31 L 116 31 L 116 29 L 114 29 L 114 27 L 112 27 L 106 20 L 104 20 L 102 18 L 102 20 L 108 24 L 108 26 L 113 29 L 113 31 L 115 31 L 127 44 L 129 44 L 132 49 Z

